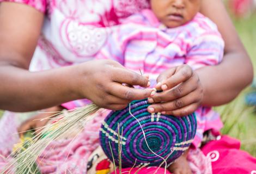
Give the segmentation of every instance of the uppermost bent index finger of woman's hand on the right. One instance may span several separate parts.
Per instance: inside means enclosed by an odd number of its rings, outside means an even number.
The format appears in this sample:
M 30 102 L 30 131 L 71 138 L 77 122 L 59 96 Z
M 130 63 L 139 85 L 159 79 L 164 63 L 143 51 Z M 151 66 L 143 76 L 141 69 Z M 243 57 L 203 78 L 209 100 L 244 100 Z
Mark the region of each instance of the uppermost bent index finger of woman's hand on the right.
M 175 73 L 173 74 L 173 76 L 169 77 L 166 80 L 163 80 L 161 83 L 161 89 L 164 90 L 168 90 L 168 89 L 172 89 L 174 86 L 185 82 L 187 79 L 191 78 L 191 76 L 193 75 L 193 71 L 191 69 L 190 66 L 188 65 L 184 65 L 182 67 L 180 67 L 180 69 L 176 70 Z

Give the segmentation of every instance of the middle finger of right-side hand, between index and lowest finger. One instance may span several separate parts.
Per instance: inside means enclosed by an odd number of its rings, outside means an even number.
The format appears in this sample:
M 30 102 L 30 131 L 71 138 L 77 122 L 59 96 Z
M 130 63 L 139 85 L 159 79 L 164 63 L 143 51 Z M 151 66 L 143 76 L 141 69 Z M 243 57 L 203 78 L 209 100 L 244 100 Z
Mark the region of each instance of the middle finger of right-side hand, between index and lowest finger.
M 198 82 L 196 78 L 191 78 L 184 83 L 181 83 L 170 90 L 163 92 L 157 92 L 153 97 L 149 98 L 149 103 L 159 103 L 166 101 L 173 101 L 177 98 L 181 98 L 190 94 L 192 91 L 198 88 Z

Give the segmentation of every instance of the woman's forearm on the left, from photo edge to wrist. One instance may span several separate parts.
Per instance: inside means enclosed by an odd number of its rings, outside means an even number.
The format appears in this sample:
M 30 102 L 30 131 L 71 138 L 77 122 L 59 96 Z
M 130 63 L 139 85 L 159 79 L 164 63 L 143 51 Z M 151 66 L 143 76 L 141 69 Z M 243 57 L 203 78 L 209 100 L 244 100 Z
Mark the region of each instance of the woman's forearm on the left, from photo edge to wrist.
M 31 111 L 76 100 L 74 67 L 29 72 L 11 65 L 0 66 L 0 108 Z

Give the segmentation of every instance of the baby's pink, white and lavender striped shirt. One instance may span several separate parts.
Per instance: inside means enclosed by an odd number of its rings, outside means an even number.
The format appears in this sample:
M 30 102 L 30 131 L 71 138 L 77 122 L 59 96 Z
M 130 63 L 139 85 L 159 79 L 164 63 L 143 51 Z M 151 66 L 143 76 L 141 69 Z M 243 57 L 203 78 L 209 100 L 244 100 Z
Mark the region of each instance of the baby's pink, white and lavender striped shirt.
M 97 59 L 113 59 L 127 69 L 149 74 L 151 86 L 164 70 L 187 64 L 196 70 L 217 65 L 223 57 L 224 41 L 216 25 L 198 13 L 180 27 L 166 28 L 153 11 L 144 9 L 118 26 L 108 28 Z

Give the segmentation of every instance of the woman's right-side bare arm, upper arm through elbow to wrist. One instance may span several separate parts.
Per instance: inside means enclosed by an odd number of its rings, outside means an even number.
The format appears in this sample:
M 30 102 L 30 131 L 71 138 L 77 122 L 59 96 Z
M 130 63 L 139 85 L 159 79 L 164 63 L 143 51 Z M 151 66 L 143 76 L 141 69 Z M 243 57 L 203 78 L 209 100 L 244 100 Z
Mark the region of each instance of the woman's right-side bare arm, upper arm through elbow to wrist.
M 233 100 L 253 79 L 251 60 L 236 33 L 221 0 L 203 0 L 201 13 L 217 24 L 224 41 L 220 65 L 197 70 L 204 88 L 203 105 L 221 105 Z

